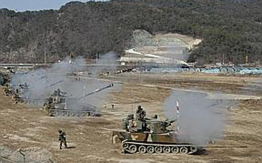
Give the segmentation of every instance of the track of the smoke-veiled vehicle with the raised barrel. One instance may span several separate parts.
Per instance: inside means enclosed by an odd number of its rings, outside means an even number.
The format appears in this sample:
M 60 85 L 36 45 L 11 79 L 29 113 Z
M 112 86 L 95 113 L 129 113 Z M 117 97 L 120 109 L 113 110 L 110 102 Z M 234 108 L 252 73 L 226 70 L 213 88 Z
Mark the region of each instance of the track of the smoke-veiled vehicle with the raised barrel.
M 94 117 L 98 116 L 92 110 L 49 110 L 49 115 L 53 117 L 64 116 L 64 117 Z

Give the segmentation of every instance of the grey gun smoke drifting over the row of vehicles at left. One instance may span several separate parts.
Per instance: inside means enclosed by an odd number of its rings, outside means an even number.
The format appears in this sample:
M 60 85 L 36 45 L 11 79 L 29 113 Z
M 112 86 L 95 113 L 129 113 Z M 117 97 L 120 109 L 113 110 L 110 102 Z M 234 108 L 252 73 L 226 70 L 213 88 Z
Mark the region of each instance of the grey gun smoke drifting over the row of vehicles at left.
M 106 58 L 106 61 L 104 61 L 103 58 L 99 59 L 99 61 L 105 64 L 108 57 L 112 57 L 113 53 L 109 53 L 109 55 L 110 56 L 102 55 Z M 86 61 L 81 57 L 73 60 L 66 58 L 59 63 L 53 64 L 51 67 L 34 69 L 27 73 L 16 73 L 12 75 L 11 85 L 13 88 L 20 89 L 19 85 L 26 83 L 29 89 L 23 90 L 21 94 L 23 98 L 44 100 L 57 89 L 60 89 L 62 92 L 67 92 L 66 96 L 68 97 L 80 98 L 88 92 L 110 84 L 109 82 L 102 82 L 92 78 L 82 79 L 81 75 L 83 72 L 90 72 L 84 65 L 86 65 Z M 102 69 L 102 66 L 100 66 L 100 68 Z M 111 69 L 113 69 L 113 64 L 111 64 Z M 82 74 L 80 75 L 80 73 Z M 94 74 L 92 71 L 90 73 Z M 103 90 L 102 92 L 75 101 L 72 109 L 77 109 L 77 103 L 79 102 L 100 106 L 107 97 L 109 90 Z

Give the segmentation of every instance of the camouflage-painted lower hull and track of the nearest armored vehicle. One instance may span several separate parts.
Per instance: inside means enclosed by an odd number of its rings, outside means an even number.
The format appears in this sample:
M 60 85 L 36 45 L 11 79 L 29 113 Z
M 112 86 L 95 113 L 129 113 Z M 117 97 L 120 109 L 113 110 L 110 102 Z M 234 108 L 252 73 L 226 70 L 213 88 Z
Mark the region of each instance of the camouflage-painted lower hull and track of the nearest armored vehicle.
M 112 141 L 121 141 L 124 154 L 193 154 L 196 145 L 176 139 L 176 133 L 130 133 L 114 131 Z

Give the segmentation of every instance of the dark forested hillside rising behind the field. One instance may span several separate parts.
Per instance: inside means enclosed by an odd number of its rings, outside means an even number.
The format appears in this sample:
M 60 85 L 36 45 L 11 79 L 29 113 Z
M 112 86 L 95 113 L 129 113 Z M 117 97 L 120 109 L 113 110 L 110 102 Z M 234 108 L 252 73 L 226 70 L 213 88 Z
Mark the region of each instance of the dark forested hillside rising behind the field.
M 70 53 L 87 58 L 132 46 L 132 31 L 203 39 L 190 60 L 262 60 L 261 0 L 113 0 L 70 2 L 59 10 L 0 10 L 0 61 L 48 62 Z

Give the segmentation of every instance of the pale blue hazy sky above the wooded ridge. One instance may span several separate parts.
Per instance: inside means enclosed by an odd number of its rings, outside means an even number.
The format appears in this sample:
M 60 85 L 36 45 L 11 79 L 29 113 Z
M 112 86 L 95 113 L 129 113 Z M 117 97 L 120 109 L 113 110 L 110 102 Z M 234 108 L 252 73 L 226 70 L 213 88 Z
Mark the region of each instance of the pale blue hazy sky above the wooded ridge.
M 73 0 L 0 0 L 0 8 L 7 8 L 15 11 L 59 9 L 62 5 L 70 1 Z M 86 2 L 88 0 L 78 1 Z

